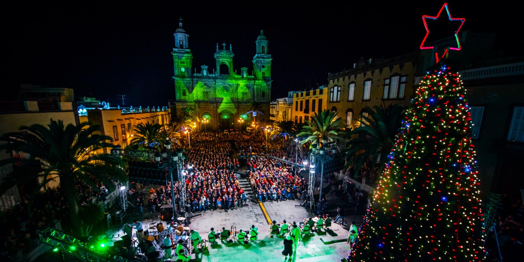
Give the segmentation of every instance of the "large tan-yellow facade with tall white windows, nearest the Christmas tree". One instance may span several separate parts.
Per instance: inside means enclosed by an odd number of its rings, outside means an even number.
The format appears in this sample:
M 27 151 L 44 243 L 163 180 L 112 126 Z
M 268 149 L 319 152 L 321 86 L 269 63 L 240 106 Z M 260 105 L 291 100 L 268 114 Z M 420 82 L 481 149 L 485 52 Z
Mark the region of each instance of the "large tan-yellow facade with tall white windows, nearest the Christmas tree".
M 376 61 L 361 58 L 352 69 L 330 73 L 327 108 L 343 118 L 345 127 L 354 128 L 367 106 L 409 105 L 415 91 L 416 61 L 416 53 Z

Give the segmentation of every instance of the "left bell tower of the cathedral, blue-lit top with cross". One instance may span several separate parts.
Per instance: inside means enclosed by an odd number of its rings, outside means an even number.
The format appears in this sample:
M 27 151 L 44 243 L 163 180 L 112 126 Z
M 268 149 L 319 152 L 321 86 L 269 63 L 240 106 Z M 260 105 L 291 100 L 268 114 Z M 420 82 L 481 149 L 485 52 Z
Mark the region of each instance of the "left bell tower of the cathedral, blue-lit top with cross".
M 193 54 L 189 49 L 189 35 L 182 28 L 182 18 L 179 19 L 179 28 L 174 31 L 174 46 L 171 54 L 173 55 L 174 76 L 191 77 Z

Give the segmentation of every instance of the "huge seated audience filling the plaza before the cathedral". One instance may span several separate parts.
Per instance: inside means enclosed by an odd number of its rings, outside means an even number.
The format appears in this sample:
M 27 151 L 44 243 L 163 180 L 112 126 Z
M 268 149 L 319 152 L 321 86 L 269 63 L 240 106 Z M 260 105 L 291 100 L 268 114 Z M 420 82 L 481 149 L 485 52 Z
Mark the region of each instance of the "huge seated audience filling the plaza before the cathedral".
M 285 145 L 288 145 L 286 143 Z M 184 160 L 187 175 L 185 179 L 186 199 L 191 212 L 238 209 L 248 201 L 248 196 L 239 186 L 235 168 L 250 171 L 248 180 L 256 198 L 260 201 L 284 201 L 300 198 L 306 182 L 291 167 L 282 166 L 280 161 L 261 155 L 271 155 L 282 159 L 296 158 L 295 146 L 282 147 L 281 143 L 266 144 L 265 137 L 254 133 L 194 133 L 191 135 L 191 148 L 187 140 L 182 141 L 188 159 Z M 289 150 L 288 150 L 289 149 Z M 239 162 L 239 157 L 252 154 L 255 157 Z M 174 182 L 175 204 L 180 203 L 179 182 Z M 171 204 L 171 184 L 167 182 L 149 192 L 147 206 L 149 211 L 158 212 L 158 207 Z M 132 196 L 141 211 L 145 198 Z M 178 210 L 187 207 L 178 206 Z

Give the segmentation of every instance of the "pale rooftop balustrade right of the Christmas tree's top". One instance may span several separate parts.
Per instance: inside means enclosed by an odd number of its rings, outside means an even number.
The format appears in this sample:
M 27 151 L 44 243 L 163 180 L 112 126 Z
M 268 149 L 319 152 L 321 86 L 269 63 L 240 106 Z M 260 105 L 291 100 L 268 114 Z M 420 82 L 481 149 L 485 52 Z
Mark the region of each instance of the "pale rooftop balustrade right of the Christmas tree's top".
M 524 74 L 524 62 L 468 69 L 460 72 L 463 80 L 508 77 Z

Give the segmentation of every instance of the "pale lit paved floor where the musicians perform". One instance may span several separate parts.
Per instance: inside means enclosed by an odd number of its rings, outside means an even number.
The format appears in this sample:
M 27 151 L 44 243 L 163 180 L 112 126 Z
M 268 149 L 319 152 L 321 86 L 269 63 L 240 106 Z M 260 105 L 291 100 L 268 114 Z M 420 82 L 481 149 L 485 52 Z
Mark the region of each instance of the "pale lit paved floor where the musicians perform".
M 302 207 L 296 207 L 299 201 L 265 202 L 264 207 L 271 220 L 282 222 L 296 221 L 310 216 Z M 283 261 L 283 237 L 271 238 L 269 225 L 265 214 L 258 204 L 250 202 L 249 206 L 241 209 L 206 212 L 202 217 L 194 219 L 191 228 L 199 231 L 203 238 L 207 238 L 211 227 L 215 230 L 225 227 L 230 230 L 235 225 L 237 230 L 248 230 L 254 224 L 258 227 L 259 239 L 257 243 L 239 245 L 238 243 L 217 244 L 209 248 L 209 255 L 198 254 L 192 261 Z M 347 256 L 349 247 L 346 244 L 347 230 L 338 225 L 332 225 L 328 233 L 313 233 L 298 243 L 294 256 L 289 261 L 340 261 Z

